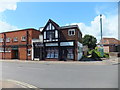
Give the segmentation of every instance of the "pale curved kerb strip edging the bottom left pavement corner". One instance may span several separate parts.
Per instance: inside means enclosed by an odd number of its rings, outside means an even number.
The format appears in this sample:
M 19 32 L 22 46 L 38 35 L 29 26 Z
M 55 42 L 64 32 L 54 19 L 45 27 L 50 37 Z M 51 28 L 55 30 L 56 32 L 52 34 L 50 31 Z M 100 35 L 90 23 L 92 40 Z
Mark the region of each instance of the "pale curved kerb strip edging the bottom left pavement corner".
M 15 84 L 18 84 L 18 85 L 20 85 L 20 86 L 23 87 L 23 88 L 38 88 L 38 87 L 36 87 L 36 86 L 30 85 L 30 84 L 28 84 L 28 83 L 21 82 L 21 81 L 16 81 L 16 80 L 11 80 L 11 79 L 7 79 L 6 81 L 8 81 L 8 82 L 13 82 L 13 83 L 15 83 Z

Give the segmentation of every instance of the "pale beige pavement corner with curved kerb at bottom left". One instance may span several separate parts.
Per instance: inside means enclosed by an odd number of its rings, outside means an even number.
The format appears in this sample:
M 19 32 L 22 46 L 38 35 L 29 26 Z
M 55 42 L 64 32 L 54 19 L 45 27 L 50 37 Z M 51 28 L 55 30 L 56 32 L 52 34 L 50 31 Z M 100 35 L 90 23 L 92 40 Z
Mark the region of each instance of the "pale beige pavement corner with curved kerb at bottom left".
M 23 88 L 23 89 L 29 89 L 29 88 L 37 88 L 36 86 L 30 85 L 25 82 L 20 82 L 16 80 L 0 80 L 0 88 Z

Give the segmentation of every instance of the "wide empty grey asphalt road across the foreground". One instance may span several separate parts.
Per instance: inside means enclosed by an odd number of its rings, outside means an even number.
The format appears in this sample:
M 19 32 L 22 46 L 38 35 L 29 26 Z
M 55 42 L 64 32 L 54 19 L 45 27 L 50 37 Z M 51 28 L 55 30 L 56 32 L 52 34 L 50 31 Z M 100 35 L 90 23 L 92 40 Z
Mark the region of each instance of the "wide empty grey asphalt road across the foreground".
M 2 62 L 2 78 L 38 88 L 117 88 L 118 65 Z

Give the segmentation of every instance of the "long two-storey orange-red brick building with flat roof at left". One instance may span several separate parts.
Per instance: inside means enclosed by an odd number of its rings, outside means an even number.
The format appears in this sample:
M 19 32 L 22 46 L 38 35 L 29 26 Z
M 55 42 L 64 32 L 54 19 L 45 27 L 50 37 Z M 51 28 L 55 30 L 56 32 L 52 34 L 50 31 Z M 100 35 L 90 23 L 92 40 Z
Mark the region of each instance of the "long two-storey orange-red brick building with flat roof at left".
M 0 58 L 29 60 L 32 39 L 38 39 L 40 31 L 29 28 L 0 33 Z

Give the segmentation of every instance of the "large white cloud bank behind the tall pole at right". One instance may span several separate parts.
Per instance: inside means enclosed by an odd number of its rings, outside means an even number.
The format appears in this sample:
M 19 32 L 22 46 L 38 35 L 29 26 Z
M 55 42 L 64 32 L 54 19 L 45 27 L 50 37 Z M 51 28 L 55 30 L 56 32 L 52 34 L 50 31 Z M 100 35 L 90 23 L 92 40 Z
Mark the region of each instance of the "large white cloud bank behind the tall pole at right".
M 68 25 L 68 24 L 67 24 Z M 83 36 L 85 34 L 93 35 L 97 38 L 98 42 L 100 40 L 100 16 L 96 16 L 92 21 L 90 26 L 85 25 L 85 23 L 71 23 L 70 25 L 78 25 Z M 118 38 L 118 15 L 111 17 L 102 16 L 102 26 L 103 26 L 103 37 L 113 37 Z

